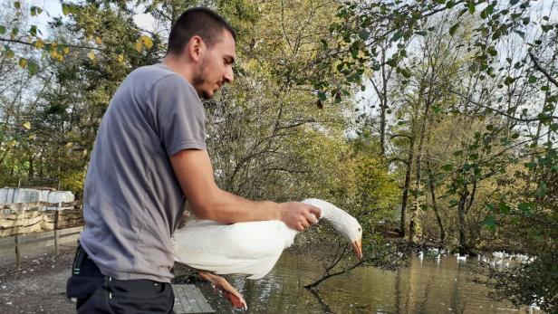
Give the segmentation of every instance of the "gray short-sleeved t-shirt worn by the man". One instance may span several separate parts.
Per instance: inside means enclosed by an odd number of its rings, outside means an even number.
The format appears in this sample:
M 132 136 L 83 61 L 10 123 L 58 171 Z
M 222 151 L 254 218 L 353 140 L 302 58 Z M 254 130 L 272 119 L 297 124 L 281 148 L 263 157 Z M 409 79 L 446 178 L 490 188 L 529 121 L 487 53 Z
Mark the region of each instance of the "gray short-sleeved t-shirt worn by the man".
M 168 159 L 206 149 L 196 90 L 163 64 L 132 71 L 101 121 L 84 188 L 82 247 L 118 280 L 170 282 L 186 198 Z

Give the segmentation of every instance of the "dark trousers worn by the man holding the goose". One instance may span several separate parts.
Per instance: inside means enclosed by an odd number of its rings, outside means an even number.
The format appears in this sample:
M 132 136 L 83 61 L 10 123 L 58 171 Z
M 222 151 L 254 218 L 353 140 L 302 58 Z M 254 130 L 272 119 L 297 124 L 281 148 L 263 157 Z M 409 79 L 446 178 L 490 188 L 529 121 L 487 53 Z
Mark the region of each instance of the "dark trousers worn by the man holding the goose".
M 82 246 L 75 254 L 66 295 L 77 299 L 78 313 L 174 313 L 170 283 L 105 276 Z

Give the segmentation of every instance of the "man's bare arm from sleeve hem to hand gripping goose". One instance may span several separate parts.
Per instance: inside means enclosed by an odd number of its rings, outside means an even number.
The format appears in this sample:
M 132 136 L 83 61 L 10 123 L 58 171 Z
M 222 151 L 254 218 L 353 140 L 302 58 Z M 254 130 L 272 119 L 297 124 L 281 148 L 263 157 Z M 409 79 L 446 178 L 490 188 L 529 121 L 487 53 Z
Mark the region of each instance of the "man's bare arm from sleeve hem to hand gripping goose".
M 255 202 L 216 186 L 213 167 L 206 150 L 186 149 L 170 157 L 170 163 L 197 218 L 223 224 L 261 220 L 281 220 L 302 231 L 316 223 L 320 210 L 299 202 L 277 204 Z M 314 216 L 315 215 L 315 216 Z

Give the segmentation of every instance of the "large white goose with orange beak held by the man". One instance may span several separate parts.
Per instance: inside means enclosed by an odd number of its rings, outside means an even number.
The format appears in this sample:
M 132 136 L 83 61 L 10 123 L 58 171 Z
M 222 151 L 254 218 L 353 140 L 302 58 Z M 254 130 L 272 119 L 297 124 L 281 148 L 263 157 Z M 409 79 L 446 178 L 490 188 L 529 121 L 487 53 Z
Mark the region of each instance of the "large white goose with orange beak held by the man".
M 351 214 L 315 198 L 306 199 L 303 203 L 320 208 L 320 220 L 332 224 L 351 243 L 357 256 L 362 258 L 362 228 Z M 293 244 L 297 233 L 276 220 L 237 224 L 192 220 L 174 233 L 173 253 L 176 262 L 199 270 L 200 276 L 223 290 L 233 305 L 246 308 L 240 293 L 214 273 L 247 274 L 250 275 L 249 279 L 262 278 L 274 268 L 283 250 Z

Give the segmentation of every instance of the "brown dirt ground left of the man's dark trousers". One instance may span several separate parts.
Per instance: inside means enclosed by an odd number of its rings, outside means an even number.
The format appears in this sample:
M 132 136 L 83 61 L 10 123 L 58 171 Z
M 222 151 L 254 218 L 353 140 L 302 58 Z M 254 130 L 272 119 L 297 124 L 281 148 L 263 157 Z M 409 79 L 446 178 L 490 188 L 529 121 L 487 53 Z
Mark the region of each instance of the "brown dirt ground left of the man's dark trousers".
M 0 313 L 75 313 L 75 303 L 65 295 L 75 246 L 63 245 L 61 252 L 24 257 L 0 266 Z

